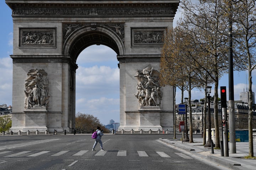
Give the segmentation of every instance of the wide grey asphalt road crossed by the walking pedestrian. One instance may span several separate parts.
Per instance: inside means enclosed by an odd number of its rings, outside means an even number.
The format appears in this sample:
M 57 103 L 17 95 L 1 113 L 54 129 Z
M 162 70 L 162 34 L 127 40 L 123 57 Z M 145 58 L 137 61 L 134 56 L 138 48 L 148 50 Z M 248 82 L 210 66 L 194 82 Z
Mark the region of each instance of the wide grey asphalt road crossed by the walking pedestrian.
M 0 170 L 224 170 L 159 142 L 173 135 L 0 136 Z

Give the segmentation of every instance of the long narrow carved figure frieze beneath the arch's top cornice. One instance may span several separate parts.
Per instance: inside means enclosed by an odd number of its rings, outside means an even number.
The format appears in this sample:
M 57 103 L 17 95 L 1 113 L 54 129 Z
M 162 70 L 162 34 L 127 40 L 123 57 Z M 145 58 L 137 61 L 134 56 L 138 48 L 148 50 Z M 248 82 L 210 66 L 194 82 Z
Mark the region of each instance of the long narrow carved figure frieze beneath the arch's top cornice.
M 174 15 L 175 10 L 172 7 L 155 7 L 155 8 L 15 8 L 12 10 L 13 17 L 26 15 L 26 16 L 148 16 L 148 15 Z

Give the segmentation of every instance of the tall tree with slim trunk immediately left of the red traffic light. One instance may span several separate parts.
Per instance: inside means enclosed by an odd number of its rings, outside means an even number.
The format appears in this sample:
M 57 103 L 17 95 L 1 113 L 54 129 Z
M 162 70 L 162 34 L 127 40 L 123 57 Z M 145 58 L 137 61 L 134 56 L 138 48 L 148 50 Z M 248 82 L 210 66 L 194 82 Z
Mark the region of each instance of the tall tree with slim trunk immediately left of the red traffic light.
M 207 3 L 206 3 L 207 1 Z M 194 43 L 197 44 L 198 52 L 206 55 L 195 57 L 201 68 L 204 68 L 214 81 L 214 126 L 219 127 L 218 121 L 218 85 L 219 78 L 227 69 L 227 38 L 219 32 L 226 29 L 223 21 L 223 11 L 219 6 L 219 0 L 200 0 L 192 3 L 190 0 L 182 1 L 184 9 L 183 20 L 178 25 L 187 29 L 187 32 L 194 34 Z M 199 61 L 200 60 L 200 61 Z M 201 61 L 206 61 L 202 63 Z M 207 65 L 206 65 L 207 64 Z M 220 147 L 219 129 L 215 129 L 216 147 Z

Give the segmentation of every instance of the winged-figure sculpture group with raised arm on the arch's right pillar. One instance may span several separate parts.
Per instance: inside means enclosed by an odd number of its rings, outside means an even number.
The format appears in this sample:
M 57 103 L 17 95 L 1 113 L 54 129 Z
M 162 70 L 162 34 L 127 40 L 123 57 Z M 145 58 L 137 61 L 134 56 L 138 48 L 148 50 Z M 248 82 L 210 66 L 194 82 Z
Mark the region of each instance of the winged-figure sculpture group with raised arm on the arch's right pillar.
M 160 106 L 162 94 L 159 85 L 159 72 L 148 65 L 143 70 L 137 70 L 137 94 L 140 106 Z

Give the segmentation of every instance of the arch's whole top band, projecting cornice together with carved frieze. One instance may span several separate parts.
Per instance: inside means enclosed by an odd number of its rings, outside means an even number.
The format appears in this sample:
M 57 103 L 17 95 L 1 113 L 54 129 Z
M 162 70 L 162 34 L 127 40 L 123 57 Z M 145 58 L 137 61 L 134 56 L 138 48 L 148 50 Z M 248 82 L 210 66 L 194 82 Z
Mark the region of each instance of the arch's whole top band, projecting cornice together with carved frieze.
M 6 1 L 12 17 L 174 17 L 178 1 Z

